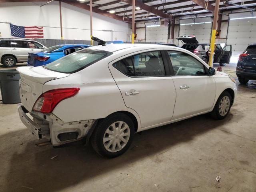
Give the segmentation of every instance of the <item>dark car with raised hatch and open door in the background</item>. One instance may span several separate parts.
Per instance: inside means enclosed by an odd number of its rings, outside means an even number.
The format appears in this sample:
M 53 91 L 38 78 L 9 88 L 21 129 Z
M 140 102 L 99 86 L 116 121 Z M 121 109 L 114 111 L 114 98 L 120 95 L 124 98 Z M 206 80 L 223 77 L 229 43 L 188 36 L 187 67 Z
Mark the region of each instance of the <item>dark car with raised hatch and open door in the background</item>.
M 181 40 L 184 44 L 181 48 L 193 52 L 198 57 L 200 57 L 204 62 L 208 63 L 209 56 L 208 50 L 210 48 L 209 43 L 198 43 L 195 36 L 180 36 L 177 38 Z M 232 46 L 226 45 L 223 49 L 220 44 L 215 44 L 213 62 L 220 63 L 220 66 L 225 66 L 226 63 L 230 63 L 230 58 L 232 56 Z

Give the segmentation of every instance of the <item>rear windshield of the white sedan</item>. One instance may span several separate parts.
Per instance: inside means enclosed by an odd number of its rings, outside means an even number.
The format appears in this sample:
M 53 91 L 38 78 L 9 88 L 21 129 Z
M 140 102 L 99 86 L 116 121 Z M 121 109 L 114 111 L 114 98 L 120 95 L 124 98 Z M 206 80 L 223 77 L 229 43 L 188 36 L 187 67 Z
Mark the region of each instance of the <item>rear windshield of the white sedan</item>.
M 112 52 L 102 50 L 84 49 L 47 64 L 44 68 L 61 73 L 75 73 L 111 54 Z

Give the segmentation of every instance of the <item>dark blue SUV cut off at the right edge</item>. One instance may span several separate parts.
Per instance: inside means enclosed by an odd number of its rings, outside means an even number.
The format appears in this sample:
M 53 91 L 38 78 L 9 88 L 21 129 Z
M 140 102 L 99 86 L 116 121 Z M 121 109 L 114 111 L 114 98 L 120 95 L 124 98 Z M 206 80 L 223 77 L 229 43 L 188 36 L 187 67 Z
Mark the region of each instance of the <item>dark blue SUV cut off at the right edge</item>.
M 247 84 L 249 80 L 256 80 L 256 44 L 249 45 L 240 54 L 236 66 L 236 76 L 241 84 Z

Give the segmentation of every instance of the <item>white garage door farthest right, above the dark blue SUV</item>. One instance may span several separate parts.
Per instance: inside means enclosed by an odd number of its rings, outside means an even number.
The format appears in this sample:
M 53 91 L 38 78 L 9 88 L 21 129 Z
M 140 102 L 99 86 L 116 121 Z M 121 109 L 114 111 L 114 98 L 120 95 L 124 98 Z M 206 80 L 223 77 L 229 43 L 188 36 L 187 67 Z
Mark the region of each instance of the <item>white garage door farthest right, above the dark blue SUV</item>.
M 227 44 L 232 45 L 232 56 L 238 57 L 249 44 L 256 43 L 256 12 L 232 13 L 228 26 Z

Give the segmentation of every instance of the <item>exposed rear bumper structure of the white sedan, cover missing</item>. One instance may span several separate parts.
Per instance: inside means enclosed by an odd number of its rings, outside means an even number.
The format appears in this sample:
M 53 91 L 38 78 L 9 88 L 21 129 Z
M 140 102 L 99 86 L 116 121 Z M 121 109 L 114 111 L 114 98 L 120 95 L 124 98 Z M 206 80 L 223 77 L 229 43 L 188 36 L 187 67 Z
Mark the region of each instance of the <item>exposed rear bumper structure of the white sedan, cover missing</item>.
M 38 139 L 47 138 L 53 146 L 74 142 L 86 137 L 92 132 L 96 120 L 82 120 L 74 122 L 63 122 L 54 114 L 43 114 L 30 112 L 32 119 L 27 115 L 29 112 L 18 104 L 18 112 L 22 123 Z

